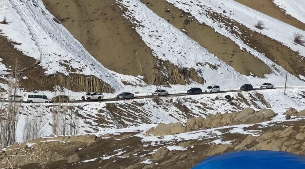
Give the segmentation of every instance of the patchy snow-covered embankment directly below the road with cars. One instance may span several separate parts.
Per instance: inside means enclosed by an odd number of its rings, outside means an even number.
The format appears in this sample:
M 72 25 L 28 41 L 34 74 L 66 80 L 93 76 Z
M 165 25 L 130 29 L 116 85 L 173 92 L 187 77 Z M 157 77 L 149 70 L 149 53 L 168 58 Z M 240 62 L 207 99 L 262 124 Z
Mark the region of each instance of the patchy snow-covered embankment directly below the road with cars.
M 139 124 L 170 123 L 186 121 L 190 117 L 205 117 L 217 112 L 234 112 L 246 107 L 262 109 L 266 107 L 300 107 L 304 106 L 302 89 L 260 90 L 250 92 L 229 92 L 209 95 L 192 95 L 168 97 L 157 105 L 152 99 L 137 99 L 113 102 L 68 103 L 60 105 L 59 112 L 67 111 L 66 116 L 57 114 L 58 124 L 65 118 L 69 128 L 70 115 L 77 120 L 78 133 L 107 131 L 114 128 L 127 128 Z M 274 96 L 277 96 L 274 98 Z M 73 107 L 73 108 L 72 108 Z M 32 121 L 43 119 L 41 136 L 52 134 L 54 124 L 53 113 L 58 109 L 55 104 L 23 103 L 20 108 L 22 114 L 18 117 L 17 141 L 22 142 L 26 118 Z M 42 116 L 41 116 L 42 115 Z M 68 134 L 68 132 L 66 132 Z

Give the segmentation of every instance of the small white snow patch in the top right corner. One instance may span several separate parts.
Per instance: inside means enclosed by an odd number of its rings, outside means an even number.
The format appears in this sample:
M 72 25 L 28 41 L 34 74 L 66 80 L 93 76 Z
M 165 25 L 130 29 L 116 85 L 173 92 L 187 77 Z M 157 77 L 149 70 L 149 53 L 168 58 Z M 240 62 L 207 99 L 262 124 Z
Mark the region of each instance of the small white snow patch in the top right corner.
M 300 0 L 273 0 L 274 4 L 297 20 L 305 23 L 305 1 Z

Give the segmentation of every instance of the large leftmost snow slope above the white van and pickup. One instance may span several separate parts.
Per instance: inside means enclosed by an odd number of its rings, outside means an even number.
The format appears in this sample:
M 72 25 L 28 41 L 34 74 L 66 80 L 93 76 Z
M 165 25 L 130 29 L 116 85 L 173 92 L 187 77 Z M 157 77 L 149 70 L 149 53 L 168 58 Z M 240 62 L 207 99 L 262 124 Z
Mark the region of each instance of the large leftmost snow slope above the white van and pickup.
M 97 62 L 60 23 L 57 23 L 41 0 L 0 1 L 0 18 L 6 16 L 8 25 L 1 24 L 2 33 L 20 43 L 16 49 L 25 55 L 42 59 L 45 74 L 69 73 L 94 75 L 115 90 L 122 88 L 108 70 Z

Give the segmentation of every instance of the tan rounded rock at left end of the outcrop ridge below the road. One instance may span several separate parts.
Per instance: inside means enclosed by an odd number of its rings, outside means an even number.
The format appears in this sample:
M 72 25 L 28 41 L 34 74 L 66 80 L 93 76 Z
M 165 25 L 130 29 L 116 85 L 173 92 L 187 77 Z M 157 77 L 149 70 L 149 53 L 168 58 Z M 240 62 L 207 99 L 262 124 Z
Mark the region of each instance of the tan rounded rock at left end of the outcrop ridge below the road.
M 147 131 L 147 134 L 150 133 L 155 136 L 161 136 L 161 135 L 173 135 L 184 132 L 185 132 L 185 127 L 181 124 L 181 122 L 177 122 L 177 123 L 169 123 L 169 124 L 160 123 L 157 125 L 156 128 L 149 129 L 149 131 Z

